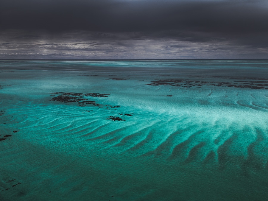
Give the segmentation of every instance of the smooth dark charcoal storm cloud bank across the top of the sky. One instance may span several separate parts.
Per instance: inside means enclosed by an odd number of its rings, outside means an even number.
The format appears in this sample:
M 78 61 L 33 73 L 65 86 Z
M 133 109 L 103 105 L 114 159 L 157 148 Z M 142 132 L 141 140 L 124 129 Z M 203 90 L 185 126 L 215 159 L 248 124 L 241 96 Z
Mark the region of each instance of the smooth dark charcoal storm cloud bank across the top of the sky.
M 1 29 L 267 31 L 267 1 L 1 1 Z

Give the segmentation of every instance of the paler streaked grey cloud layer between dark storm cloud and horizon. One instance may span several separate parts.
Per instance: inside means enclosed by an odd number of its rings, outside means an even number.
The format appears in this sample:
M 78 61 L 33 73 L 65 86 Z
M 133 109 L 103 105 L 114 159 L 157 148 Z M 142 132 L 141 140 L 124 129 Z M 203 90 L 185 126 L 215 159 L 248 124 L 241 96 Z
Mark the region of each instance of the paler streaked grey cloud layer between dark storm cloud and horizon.
M 185 38 L 150 36 L 133 38 L 141 33 L 122 36 L 122 33 L 85 31 L 53 35 L 52 38 L 36 33 L 35 39 L 31 39 L 16 34 L 13 30 L 7 34 L 9 37 L 2 37 L 2 59 L 237 59 L 237 55 L 239 59 L 262 59 L 267 55 L 265 47 L 237 45 L 229 39 L 187 41 Z

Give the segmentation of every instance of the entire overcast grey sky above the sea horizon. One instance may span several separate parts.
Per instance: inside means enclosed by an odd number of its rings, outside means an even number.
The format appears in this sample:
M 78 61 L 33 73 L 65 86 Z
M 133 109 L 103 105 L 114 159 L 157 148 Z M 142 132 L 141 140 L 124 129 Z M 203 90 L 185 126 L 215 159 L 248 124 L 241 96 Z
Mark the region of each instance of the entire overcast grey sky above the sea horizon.
M 267 0 L 0 1 L 1 59 L 267 59 Z

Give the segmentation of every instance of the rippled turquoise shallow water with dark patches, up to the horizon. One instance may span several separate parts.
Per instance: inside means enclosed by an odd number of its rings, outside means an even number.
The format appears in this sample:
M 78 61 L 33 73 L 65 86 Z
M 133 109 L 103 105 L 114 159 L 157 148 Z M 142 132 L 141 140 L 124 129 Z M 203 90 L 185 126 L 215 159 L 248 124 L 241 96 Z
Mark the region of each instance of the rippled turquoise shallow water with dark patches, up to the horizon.
M 268 199 L 267 60 L 0 64 L 1 200 Z

